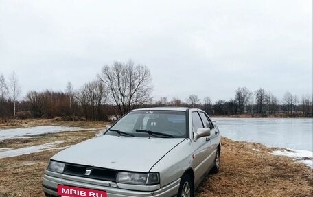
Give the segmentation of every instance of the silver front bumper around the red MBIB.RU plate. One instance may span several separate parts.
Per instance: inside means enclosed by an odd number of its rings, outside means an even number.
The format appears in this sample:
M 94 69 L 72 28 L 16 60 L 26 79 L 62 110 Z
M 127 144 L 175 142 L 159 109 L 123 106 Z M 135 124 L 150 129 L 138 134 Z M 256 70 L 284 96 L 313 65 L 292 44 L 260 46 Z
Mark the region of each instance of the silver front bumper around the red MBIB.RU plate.
M 165 185 L 159 189 L 154 191 L 142 191 L 146 189 L 135 190 L 132 189 L 132 185 L 128 185 L 128 189 L 121 189 L 119 185 L 116 183 L 112 184 L 113 187 L 104 186 L 111 185 L 111 183 L 107 181 L 94 181 L 94 184 L 91 183 L 89 178 L 78 178 L 76 176 L 65 176 L 66 178 L 60 178 L 56 176 L 51 176 L 49 173 L 43 176 L 43 191 L 45 192 L 45 196 L 55 197 L 58 196 L 57 187 L 58 185 L 69 185 L 73 187 L 84 187 L 89 189 L 97 189 L 103 190 L 107 192 L 108 197 L 131 197 L 131 196 L 156 196 L 156 197 L 172 197 L 176 196 L 179 189 L 179 183 L 181 182 L 181 178 L 178 180 Z M 101 184 L 101 182 L 103 184 Z M 149 189 L 149 186 L 147 186 Z

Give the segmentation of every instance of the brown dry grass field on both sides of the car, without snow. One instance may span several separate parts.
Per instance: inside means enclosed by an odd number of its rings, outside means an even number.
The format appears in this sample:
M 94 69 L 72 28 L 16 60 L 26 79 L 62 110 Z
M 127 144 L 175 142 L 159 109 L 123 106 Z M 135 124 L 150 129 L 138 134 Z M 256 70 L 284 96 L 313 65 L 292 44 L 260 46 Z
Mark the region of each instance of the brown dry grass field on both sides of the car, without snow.
M 0 128 L 47 125 L 101 130 L 106 124 L 34 119 L 0 122 Z M 23 148 L 54 141 L 62 141 L 58 147 L 65 147 L 94 137 L 95 132 L 86 129 L 43 134 L 39 138 L 5 139 L 0 141 L 0 148 Z M 273 156 L 270 154 L 273 150 L 259 143 L 222 138 L 220 172 L 209 174 L 196 190 L 196 196 L 312 196 L 313 170 L 288 157 Z M 41 189 L 43 172 L 49 158 L 58 151 L 51 149 L 0 159 L 0 196 L 44 196 Z

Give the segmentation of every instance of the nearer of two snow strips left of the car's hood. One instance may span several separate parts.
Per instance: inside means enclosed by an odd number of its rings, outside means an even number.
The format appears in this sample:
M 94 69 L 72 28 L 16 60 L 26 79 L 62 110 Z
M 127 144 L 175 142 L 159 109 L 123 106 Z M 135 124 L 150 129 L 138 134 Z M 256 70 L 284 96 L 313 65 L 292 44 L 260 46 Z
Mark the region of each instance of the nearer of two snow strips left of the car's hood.
M 54 149 L 64 149 L 66 147 L 60 147 L 60 148 L 53 148 L 54 146 L 57 146 L 60 143 L 63 143 L 64 141 L 54 141 L 50 143 L 45 143 L 37 146 L 29 146 L 25 148 L 17 148 L 17 149 L 10 149 L 10 148 L 5 148 L 6 151 L 0 152 L 0 159 L 6 158 L 6 157 L 16 157 L 20 156 L 23 154 L 31 154 L 34 152 L 41 152 L 44 150 L 54 150 Z M 3 149 L 3 148 L 2 148 Z

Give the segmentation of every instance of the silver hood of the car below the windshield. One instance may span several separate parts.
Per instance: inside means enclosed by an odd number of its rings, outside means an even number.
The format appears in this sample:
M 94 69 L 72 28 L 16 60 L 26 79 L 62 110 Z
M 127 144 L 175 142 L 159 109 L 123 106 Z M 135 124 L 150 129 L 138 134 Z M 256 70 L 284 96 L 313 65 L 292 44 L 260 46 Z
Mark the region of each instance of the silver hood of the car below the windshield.
M 102 135 L 62 150 L 51 159 L 115 170 L 149 172 L 159 159 L 183 140 Z

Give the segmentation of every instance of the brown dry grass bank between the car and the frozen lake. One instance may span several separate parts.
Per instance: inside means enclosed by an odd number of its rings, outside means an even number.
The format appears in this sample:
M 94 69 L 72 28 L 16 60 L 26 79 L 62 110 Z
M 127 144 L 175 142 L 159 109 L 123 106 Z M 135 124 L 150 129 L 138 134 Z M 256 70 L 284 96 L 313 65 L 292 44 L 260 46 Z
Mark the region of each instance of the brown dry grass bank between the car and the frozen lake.
M 223 138 L 220 172 L 207 176 L 197 196 L 313 196 L 313 170 L 272 150 Z

